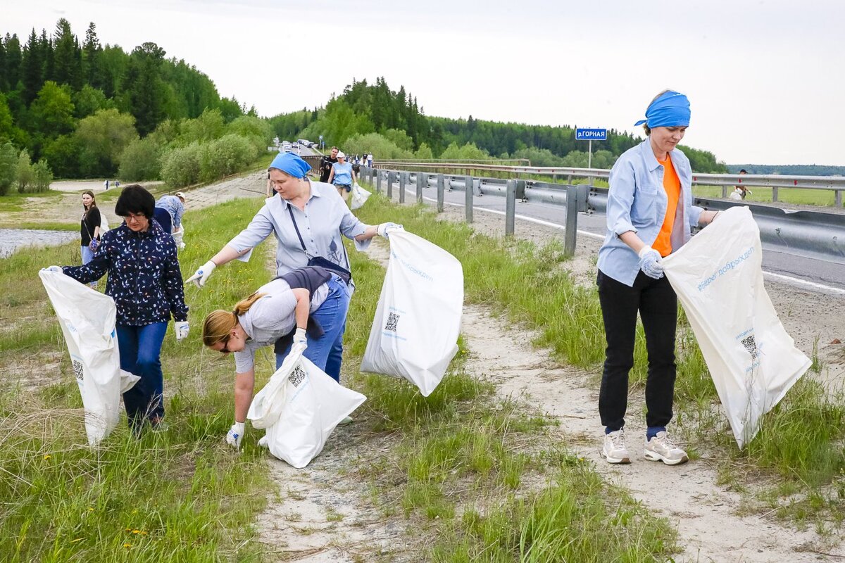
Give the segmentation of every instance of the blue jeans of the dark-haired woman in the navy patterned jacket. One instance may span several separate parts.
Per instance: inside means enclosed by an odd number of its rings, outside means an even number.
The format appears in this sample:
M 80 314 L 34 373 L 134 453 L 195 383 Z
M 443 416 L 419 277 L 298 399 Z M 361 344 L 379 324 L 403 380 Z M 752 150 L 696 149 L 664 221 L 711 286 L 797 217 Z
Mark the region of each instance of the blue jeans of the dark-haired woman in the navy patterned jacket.
M 161 343 L 164 342 L 167 323 L 153 322 L 143 327 L 118 324 L 115 328 L 120 368 L 140 376 L 135 386 L 123 393 L 129 426 L 137 432 L 145 420 L 156 424 L 164 417 Z

